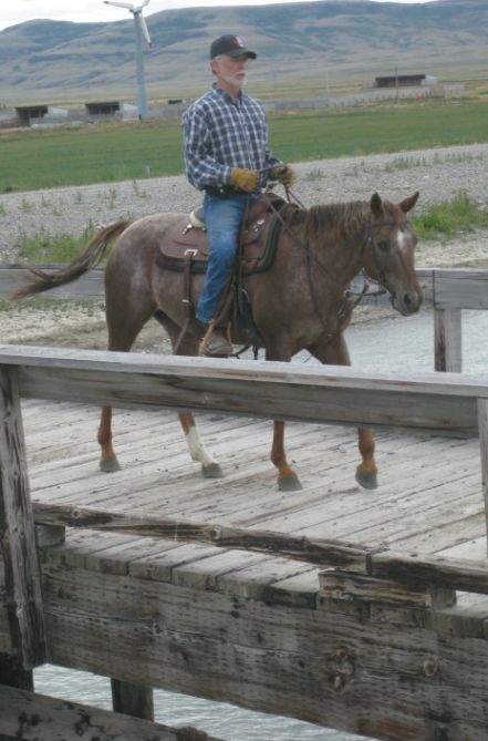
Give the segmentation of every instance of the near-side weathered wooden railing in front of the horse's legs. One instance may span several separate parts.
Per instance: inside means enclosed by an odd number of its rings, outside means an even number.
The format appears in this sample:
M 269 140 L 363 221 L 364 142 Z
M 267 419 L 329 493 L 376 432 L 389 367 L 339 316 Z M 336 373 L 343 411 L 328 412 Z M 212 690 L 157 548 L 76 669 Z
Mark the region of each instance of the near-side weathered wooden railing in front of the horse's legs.
M 2 645 L 0 641 L 0 683 L 2 652 L 18 657 L 22 670 L 39 666 L 46 657 L 34 518 L 37 523 L 50 527 L 90 527 L 170 536 L 173 539 L 300 558 L 333 569 L 321 576 L 321 589 L 325 596 L 350 589 L 351 584 L 353 588 L 361 585 L 365 599 L 384 599 L 386 591 L 394 589 L 398 603 L 404 600 L 408 605 L 434 605 L 439 590 L 444 590 L 444 597 L 449 589 L 488 594 L 488 567 L 478 563 L 456 562 L 453 566 L 439 557 L 413 557 L 280 533 L 158 521 L 154 517 L 145 519 L 72 506 L 37 505 L 33 511 L 20 404 L 21 398 L 30 398 L 150 411 L 219 412 L 479 435 L 482 487 L 487 502 L 488 378 L 453 373 L 373 373 L 341 367 L 214 361 L 3 344 L 0 346 L 0 391 L 4 604 L 15 606 L 9 613 L 9 629 L 3 632 L 3 636 L 10 636 L 11 644 Z M 412 589 L 412 584 L 415 589 Z M 121 682 L 121 687 L 131 690 L 129 682 Z M 134 687 L 134 691 L 137 688 Z M 139 690 L 144 694 L 144 688 Z M 148 696 L 147 691 L 145 699 Z M 9 703 L 17 703 L 15 708 L 40 708 L 41 716 L 49 710 L 46 702 L 48 699 L 40 696 L 22 694 L 20 691 L 12 691 L 9 696 Z M 65 708 L 65 711 L 70 711 L 70 718 L 73 718 L 73 707 Z M 12 714 L 9 710 L 12 718 L 19 718 L 19 712 Z M 110 724 L 110 714 L 102 716 L 103 723 Z M 142 727 L 137 725 L 137 729 L 127 738 L 138 738 Z M 175 737 L 169 730 L 167 737 L 160 738 L 183 737 Z

